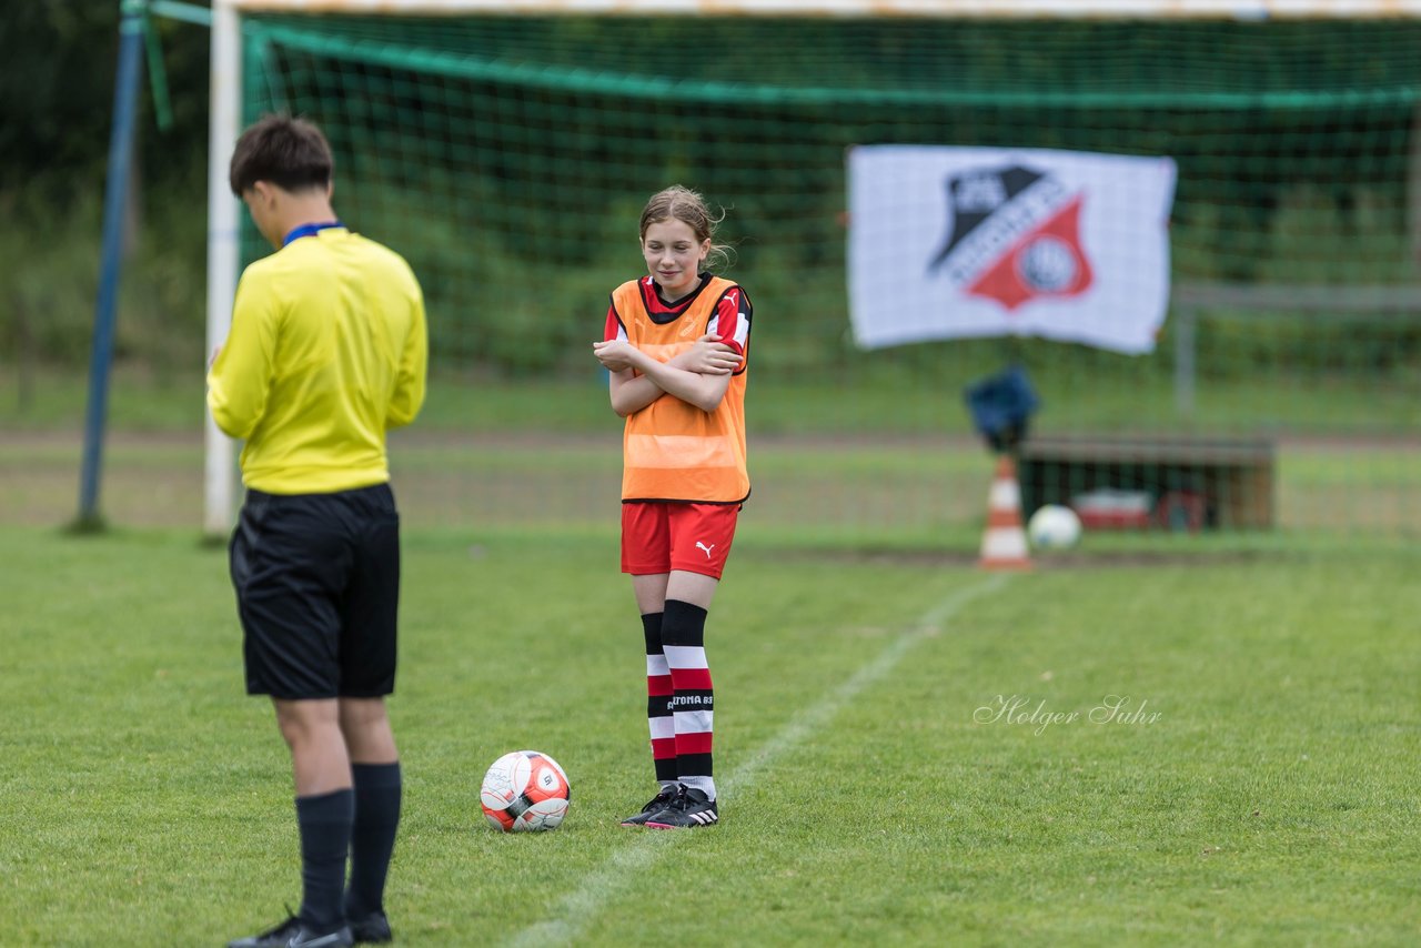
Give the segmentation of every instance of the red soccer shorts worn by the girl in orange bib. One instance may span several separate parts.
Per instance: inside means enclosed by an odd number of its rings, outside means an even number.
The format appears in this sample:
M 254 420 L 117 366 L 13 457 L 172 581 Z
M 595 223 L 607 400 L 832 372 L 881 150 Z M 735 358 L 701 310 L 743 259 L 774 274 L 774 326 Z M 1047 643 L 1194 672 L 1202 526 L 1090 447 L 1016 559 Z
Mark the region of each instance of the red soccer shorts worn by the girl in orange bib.
M 622 573 L 720 578 L 739 515 L 739 503 L 624 503 Z

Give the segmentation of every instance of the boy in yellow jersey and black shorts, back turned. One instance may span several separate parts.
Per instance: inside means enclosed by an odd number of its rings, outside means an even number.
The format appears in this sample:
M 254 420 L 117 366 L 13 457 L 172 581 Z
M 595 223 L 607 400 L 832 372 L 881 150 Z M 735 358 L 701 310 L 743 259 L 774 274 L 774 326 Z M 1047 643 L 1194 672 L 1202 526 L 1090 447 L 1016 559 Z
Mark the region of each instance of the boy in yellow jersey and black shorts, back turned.
M 271 698 L 291 750 L 303 863 L 301 911 L 234 948 L 391 941 L 399 516 L 385 432 L 419 412 L 428 337 L 409 264 L 335 217 L 333 166 L 321 131 L 281 115 L 246 129 L 230 165 L 277 252 L 242 274 L 207 405 L 246 441 L 232 581 L 247 694 Z

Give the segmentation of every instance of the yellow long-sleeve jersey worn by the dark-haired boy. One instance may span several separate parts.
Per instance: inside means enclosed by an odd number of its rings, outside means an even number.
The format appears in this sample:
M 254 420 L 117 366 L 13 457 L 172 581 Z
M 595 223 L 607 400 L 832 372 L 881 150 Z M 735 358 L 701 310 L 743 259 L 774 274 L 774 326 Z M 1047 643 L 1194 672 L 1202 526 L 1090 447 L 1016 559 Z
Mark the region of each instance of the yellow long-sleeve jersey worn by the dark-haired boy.
M 425 399 L 423 296 L 395 252 L 323 227 L 250 264 L 207 406 L 246 439 L 242 482 L 330 493 L 389 480 L 385 432 Z

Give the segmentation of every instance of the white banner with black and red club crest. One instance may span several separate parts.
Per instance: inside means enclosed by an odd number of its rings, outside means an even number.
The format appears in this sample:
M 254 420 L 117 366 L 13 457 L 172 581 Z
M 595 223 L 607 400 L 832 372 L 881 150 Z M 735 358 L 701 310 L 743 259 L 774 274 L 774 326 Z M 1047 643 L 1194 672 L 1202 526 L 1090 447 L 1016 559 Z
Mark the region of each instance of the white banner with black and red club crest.
M 1169 303 L 1169 158 L 867 145 L 848 155 L 864 348 L 1040 335 L 1148 352 Z

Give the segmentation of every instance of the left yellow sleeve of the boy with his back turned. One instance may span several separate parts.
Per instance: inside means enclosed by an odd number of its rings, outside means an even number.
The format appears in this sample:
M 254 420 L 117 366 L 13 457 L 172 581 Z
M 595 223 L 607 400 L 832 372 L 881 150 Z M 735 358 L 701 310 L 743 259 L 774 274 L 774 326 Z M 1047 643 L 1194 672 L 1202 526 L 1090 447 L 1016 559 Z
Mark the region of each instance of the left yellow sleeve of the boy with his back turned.
M 207 408 L 232 438 L 247 438 L 266 414 L 276 361 L 276 301 L 246 276 L 232 303 L 232 330 L 207 370 Z

